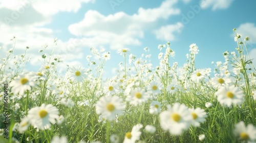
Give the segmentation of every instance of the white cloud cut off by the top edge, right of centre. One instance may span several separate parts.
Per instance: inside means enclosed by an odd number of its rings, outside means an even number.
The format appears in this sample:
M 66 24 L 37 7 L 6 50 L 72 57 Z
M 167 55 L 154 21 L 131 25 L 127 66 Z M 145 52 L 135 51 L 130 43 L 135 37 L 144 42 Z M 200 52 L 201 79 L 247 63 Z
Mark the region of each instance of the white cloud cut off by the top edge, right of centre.
M 212 10 L 217 10 L 217 9 L 226 9 L 228 8 L 233 0 L 202 0 L 200 2 L 200 7 L 203 9 L 212 7 Z

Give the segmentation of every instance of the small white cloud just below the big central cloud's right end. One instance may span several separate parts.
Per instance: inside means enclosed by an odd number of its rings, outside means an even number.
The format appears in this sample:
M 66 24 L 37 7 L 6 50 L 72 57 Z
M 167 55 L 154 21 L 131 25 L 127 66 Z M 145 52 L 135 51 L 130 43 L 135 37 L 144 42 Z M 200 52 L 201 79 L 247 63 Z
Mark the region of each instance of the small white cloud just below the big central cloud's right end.
M 160 29 L 155 31 L 157 39 L 165 40 L 165 41 L 173 41 L 175 40 L 175 34 L 179 33 L 180 29 L 184 26 L 181 22 L 176 23 L 176 25 L 167 25 L 163 26 Z

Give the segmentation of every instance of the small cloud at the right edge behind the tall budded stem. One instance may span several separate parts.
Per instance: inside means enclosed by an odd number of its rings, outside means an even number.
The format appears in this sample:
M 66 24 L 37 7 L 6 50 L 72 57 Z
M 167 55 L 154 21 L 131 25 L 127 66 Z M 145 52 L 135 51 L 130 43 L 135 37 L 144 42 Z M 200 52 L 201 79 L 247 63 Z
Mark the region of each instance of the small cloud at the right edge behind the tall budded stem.
M 236 32 L 242 34 L 242 38 L 250 37 L 249 43 L 256 43 L 256 26 L 254 26 L 254 23 L 243 23 L 237 28 Z M 232 37 L 234 37 L 234 34 L 232 34 Z

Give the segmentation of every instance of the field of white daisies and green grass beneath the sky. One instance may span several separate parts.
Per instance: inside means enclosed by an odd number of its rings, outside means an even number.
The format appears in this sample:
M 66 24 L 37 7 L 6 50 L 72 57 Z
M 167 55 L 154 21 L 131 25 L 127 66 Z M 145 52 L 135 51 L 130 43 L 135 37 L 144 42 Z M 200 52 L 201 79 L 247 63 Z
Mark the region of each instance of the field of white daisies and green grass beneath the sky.
M 234 32 L 236 51 L 215 69 L 196 67 L 196 44 L 186 63 L 172 62 L 167 42 L 156 47 L 156 67 L 119 49 L 118 74 L 106 80 L 104 50 L 92 47 L 88 67 L 69 65 L 65 75 L 54 52 L 40 50 L 44 64 L 34 72 L 24 69 L 26 52 L 9 50 L 0 61 L 0 142 L 256 142 L 256 69 L 249 37 Z

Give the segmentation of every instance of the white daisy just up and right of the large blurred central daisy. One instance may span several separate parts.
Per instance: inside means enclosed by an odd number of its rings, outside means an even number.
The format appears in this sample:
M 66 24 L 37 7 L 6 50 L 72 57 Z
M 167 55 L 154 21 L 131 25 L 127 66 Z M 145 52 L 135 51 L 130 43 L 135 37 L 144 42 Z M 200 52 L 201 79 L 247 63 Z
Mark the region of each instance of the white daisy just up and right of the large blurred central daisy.
M 150 94 L 148 94 L 145 91 L 145 89 L 141 89 L 137 87 L 131 90 L 131 93 L 127 96 L 126 100 L 130 101 L 130 104 L 137 106 L 146 102 L 149 98 L 150 98 Z

